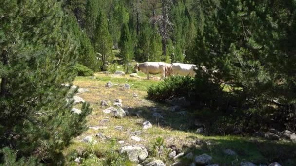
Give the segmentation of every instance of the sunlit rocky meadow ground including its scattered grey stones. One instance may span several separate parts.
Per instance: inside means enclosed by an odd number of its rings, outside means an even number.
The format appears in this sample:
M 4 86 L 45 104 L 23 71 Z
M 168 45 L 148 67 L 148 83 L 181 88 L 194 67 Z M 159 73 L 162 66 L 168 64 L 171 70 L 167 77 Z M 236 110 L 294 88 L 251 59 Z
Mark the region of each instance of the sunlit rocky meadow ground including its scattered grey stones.
M 143 74 L 140 76 L 117 72 L 78 77 L 74 81 L 79 89 L 74 97 L 77 105 L 72 111 L 79 114 L 81 103 L 87 101 L 93 112 L 88 116 L 89 130 L 76 137 L 63 152 L 66 156 L 77 152 L 78 156 L 70 159 L 72 164 L 82 163 L 86 157 L 83 151 L 89 145 L 97 145 L 101 150 L 110 142 L 117 145 L 118 153 L 127 154 L 135 166 L 295 164 L 296 146 L 293 141 L 284 140 L 293 140 L 294 133 L 257 133 L 256 136 L 263 138 L 206 136 L 206 119 L 195 119 L 192 110 L 182 107 L 186 104 L 184 99 L 167 105 L 147 100 L 147 87 L 159 80 L 157 76 L 151 80 L 145 80 Z M 103 156 L 95 150 L 92 149 L 96 157 Z

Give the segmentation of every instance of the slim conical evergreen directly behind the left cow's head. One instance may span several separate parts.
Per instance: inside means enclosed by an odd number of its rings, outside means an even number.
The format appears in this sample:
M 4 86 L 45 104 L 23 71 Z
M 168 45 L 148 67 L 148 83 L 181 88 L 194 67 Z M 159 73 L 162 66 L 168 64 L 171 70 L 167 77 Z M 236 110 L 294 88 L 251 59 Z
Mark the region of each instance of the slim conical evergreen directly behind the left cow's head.
M 126 70 L 126 73 L 129 73 L 131 70 L 131 66 L 129 65 L 129 63 L 133 58 L 134 52 L 133 52 L 131 36 L 129 33 L 129 27 L 127 23 L 125 23 L 121 28 L 119 48 L 120 48 L 121 57 L 123 59 L 124 68 Z

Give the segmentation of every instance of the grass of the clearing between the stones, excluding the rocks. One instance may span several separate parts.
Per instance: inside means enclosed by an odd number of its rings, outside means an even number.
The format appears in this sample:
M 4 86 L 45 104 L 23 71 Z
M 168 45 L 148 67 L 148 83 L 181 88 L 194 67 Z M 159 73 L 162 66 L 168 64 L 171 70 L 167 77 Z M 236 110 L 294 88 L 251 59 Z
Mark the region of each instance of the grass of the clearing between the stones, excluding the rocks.
M 206 153 L 212 157 L 211 163 L 217 163 L 220 166 L 239 166 L 244 161 L 258 165 L 279 162 L 283 166 L 295 162 L 295 159 L 290 160 L 287 158 L 289 153 L 295 153 L 294 149 L 296 148 L 295 145 L 289 142 L 266 141 L 254 137 L 233 135 L 206 136 L 195 133 L 197 127 L 195 127 L 194 121 L 196 119 L 191 113 L 192 110 L 182 109 L 171 112 L 171 106 L 147 100 L 147 88 L 158 83 L 159 80 L 146 80 L 143 73 L 140 73 L 139 76 L 141 78 L 131 78 L 129 75 L 114 76 L 96 73 L 95 77 L 77 77 L 75 79 L 74 85 L 89 90 L 86 93 L 79 94 L 80 97 L 91 104 L 93 109 L 91 115 L 87 117 L 87 125 L 90 127 L 99 126 L 99 129 L 89 128 L 74 138 L 70 147 L 63 151 L 66 156 L 71 155 L 73 150 L 80 150 L 83 153 L 86 149 L 86 143 L 81 140 L 86 136 L 92 136 L 97 141 L 99 147 L 93 148 L 92 151 L 97 156 L 100 156 L 99 154 L 104 153 L 104 150 L 108 149 L 111 142 L 110 139 L 95 136 L 97 133 L 101 133 L 111 138 L 112 141 L 115 140 L 118 147 L 140 144 L 145 146 L 149 153 L 155 149 L 158 143 L 157 138 L 163 138 L 162 146 L 164 149 L 162 154 L 156 154 L 153 157 L 161 159 L 167 166 L 178 160 L 182 160 L 182 166 L 188 166 L 193 161 L 185 159 L 185 157 L 174 161 L 168 157 L 168 154 L 173 150 L 177 154 L 183 152 L 184 155 L 192 152 L 193 156 Z M 105 87 L 109 81 L 114 84 L 111 88 Z M 123 85 L 125 83 L 129 84 L 131 88 L 124 89 Z M 114 99 L 122 100 L 123 108 L 129 111 L 130 116 L 118 119 L 103 112 L 104 109 L 113 106 Z M 109 106 L 101 106 L 102 100 L 105 100 Z M 79 106 L 77 105 L 77 107 Z M 163 118 L 152 116 L 152 113 L 155 112 L 159 113 Z M 206 120 L 203 119 L 203 121 Z M 143 122 L 145 121 L 150 121 L 152 128 L 143 129 Z M 132 136 L 139 137 L 141 140 L 137 142 L 131 138 Z M 225 149 L 231 149 L 236 155 L 225 154 Z M 149 154 L 149 157 L 152 156 Z

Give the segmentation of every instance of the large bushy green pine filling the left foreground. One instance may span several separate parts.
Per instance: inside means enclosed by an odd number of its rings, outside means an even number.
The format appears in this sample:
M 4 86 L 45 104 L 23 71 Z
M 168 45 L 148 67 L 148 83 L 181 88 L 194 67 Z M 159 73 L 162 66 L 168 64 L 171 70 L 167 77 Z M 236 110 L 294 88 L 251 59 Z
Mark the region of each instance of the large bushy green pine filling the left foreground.
M 91 111 L 85 103 L 73 114 L 73 93 L 61 85 L 76 75 L 75 35 L 58 0 L 0 3 L 0 148 L 57 164 Z

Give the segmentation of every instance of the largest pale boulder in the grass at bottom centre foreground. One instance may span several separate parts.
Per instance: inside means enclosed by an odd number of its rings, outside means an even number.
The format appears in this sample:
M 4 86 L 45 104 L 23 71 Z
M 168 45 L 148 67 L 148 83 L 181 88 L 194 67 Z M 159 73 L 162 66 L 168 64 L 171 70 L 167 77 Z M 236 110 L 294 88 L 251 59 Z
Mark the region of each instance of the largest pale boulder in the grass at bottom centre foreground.
M 148 156 L 147 149 L 139 146 L 124 146 L 120 153 L 127 153 L 129 160 L 135 163 L 144 161 Z

